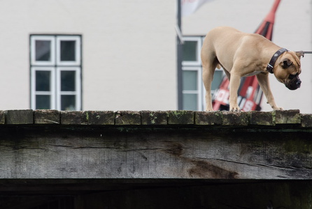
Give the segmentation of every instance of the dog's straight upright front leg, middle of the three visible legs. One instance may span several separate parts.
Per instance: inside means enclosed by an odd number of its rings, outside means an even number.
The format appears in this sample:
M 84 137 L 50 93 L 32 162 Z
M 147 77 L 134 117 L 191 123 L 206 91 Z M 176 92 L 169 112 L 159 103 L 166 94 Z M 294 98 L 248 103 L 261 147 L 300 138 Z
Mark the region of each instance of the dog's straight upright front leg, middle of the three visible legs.
M 229 111 L 241 111 L 237 103 L 239 84 L 241 84 L 241 76 L 231 74 L 231 79 L 229 80 Z

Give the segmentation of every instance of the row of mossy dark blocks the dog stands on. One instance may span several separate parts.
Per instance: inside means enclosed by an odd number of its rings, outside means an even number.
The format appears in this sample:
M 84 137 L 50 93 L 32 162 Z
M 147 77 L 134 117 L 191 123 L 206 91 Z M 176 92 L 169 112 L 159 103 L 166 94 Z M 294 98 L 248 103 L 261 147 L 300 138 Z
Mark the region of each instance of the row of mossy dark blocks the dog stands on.
M 296 125 L 312 127 L 312 114 L 298 109 L 277 111 L 0 111 L 1 125 L 218 125 L 265 126 Z

